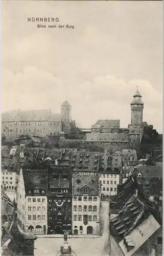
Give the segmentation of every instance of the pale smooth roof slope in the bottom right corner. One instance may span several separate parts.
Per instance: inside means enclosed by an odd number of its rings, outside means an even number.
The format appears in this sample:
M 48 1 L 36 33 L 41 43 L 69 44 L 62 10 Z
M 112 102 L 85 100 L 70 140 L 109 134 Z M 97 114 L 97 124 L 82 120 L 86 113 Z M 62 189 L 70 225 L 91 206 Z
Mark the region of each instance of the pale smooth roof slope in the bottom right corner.
M 131 245 L 130 251 L 127 250 L 124 239 L 119 243 L 124 255 L 132 256 L 159 228 L 158 222 L 152 215 L 149 215 L 125 237 L 126 243 Z

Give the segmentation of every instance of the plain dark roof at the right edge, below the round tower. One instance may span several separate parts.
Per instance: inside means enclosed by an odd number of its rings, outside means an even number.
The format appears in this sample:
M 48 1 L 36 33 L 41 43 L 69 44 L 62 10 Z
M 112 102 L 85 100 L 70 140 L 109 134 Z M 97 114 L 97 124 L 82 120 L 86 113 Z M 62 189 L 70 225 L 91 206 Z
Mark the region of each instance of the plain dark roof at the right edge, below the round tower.
M 137 166 L 134 172 L 141 173 L 143 177 L 162 177 L 162 165 Z

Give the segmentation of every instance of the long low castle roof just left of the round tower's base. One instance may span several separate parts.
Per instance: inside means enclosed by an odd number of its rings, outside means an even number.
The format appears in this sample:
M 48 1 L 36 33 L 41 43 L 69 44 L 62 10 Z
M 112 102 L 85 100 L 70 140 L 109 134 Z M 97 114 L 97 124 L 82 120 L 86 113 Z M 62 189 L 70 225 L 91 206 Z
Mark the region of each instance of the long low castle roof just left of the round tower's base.
M 124 133 L 91 133 L 86 134 L 85 142 L 129 142 L 129 135 Z

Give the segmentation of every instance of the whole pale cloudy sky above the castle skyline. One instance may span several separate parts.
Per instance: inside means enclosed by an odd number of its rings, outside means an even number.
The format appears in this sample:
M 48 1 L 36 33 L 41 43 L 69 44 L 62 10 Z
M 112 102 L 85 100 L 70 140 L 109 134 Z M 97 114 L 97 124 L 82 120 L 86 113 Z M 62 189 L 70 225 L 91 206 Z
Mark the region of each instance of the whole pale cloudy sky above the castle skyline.
M 27 17 L 75 28 L 37 28 Z M 162 2 L 2 2 L 3 112 L 60 113 L 66 99 L 82 127 L 98 119 L 127 127 L 136 86 L 144 121 L 161 133 Z

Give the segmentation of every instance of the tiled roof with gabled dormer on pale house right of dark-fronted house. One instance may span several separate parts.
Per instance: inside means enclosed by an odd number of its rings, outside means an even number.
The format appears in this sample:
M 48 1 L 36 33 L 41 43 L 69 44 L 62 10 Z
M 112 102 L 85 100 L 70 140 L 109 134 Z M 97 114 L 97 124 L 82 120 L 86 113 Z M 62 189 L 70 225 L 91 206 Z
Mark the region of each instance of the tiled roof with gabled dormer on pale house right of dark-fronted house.
M 77 181 L 79 180 L 80 183 Z M 95 181 L 95 183 L 92 183 Z M 98 196 L 99 195 L 99 177 L 95 175 L 81 175 L 76 174 L 73 176 L 73 194 L 74 196 L 82 196 L 83 195 L 83 186 L 86 185 L 89 187 L 89 192 L 87 193 L 90 196 Z M 79 188 L 79 191 L 77 189 Z M 93 189 L 93 191 L 92 191 Z

